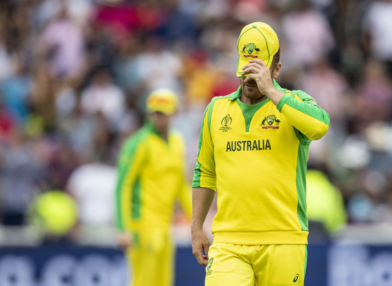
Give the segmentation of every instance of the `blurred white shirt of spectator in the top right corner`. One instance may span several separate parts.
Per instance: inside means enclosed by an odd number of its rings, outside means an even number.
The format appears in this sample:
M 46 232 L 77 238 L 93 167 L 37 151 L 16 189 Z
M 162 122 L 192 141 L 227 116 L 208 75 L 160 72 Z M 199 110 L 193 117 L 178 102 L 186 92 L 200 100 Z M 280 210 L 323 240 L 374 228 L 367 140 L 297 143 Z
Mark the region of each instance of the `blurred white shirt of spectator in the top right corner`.
M 370 45 L 375 56 L 392 60 L 392 2 L 376 1 L 367 9 L 364 28 L 370 33 Z

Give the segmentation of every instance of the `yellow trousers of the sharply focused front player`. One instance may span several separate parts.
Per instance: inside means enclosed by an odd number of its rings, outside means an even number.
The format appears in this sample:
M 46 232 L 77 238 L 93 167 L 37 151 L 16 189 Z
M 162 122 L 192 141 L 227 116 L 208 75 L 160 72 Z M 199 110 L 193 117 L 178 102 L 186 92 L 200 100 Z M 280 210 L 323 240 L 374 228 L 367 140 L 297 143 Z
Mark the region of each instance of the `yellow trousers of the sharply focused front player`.
M 303 286 L 307 245 L 213 243 L 205 286 Z

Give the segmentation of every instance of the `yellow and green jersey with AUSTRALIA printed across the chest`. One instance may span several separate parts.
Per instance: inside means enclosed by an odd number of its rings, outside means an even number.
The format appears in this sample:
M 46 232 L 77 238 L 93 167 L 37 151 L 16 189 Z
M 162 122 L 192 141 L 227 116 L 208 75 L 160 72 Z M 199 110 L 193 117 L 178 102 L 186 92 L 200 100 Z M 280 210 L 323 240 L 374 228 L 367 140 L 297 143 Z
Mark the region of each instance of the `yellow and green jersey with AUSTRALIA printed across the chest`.
M 214 243 L 307 244 L 309 144 L 329 116 L 305 92 L 274 86 L 285 93 L 277 106 L 244 104 L 239 87 L 205 111 L 192 187 L 217 190 Z

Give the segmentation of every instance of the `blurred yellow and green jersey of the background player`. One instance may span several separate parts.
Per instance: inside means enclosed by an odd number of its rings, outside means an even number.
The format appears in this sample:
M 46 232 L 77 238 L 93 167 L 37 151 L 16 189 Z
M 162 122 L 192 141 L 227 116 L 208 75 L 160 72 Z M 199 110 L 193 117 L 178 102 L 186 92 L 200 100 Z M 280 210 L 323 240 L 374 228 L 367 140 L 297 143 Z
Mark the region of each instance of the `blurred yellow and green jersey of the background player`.
M 118 158 L 117 227 L 167 229 L 178 198 L 191 217 L 183 139 L 171 132 L 165 140 L 145 124 L 123 144 Z

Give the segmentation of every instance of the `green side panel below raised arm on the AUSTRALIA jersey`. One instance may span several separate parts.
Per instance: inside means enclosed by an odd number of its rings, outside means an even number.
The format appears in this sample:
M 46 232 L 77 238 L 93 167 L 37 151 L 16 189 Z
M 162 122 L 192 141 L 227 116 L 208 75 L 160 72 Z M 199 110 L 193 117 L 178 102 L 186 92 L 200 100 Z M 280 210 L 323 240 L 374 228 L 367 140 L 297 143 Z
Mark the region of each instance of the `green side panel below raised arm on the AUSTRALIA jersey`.
M 298 144 L 297 157 L 297 215 L 302 231 L 308 231 L 308 217 L 306 215 L 306 171 L 309 145 Z

